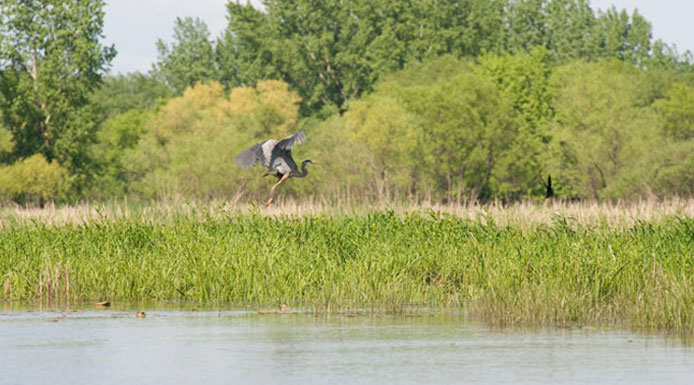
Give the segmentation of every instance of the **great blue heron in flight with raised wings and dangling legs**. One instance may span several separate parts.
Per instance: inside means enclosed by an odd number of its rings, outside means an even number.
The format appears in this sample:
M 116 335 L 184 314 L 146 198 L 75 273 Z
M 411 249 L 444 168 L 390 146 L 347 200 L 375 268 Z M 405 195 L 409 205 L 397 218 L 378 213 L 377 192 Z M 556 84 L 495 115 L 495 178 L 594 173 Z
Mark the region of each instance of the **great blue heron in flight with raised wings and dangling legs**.
M 236 163 L 241 168 L 253 167 L 258 161 L 261 166 L 268 169 L 268 172 L 263 176 L 274 175 L 279 179 L 277 183 L 270 189 L 270 199 L 265 202 L 265 206 L 272 203 L 272 198 L 275 195 L 275 189 L 285 180 L 294 178 L 304 178 L 308 175 L 306 166 L 313 164 L 310 159 L 301 162 L 301 171 L 296 166 L 296 162 L 292 158 L 292 147 L 295 144 L 301 144 L 306 140 L 306 135 L 299 131 L 282 140 L 265 140 L 257 143 L 236 157 Z

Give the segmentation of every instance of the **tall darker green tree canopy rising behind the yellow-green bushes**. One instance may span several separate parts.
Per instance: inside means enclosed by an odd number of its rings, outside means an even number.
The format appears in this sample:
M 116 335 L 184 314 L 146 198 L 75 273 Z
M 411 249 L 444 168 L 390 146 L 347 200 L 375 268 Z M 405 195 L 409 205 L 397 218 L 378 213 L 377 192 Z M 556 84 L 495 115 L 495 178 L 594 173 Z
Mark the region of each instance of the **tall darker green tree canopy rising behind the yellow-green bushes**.
M 544 47 L 556 63 L 616 58 L 640 66 L 676 55 L 652 42 L 638 12 L 596 13 L 587 0 L 266 0 L 263 8 L 229 2 L 216 47 L 220 80 L 281 78 L 306 112 L 342 108 L 380 77 L 446 54 Z

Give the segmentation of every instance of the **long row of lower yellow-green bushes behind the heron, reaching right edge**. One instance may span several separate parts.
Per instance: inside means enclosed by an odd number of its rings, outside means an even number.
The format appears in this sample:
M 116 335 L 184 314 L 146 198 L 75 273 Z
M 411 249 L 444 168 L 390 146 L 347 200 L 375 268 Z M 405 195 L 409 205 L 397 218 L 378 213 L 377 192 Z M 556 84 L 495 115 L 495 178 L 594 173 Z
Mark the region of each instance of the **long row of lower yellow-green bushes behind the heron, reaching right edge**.
M 293 155 L 316 166 L 281 197 L 543 199 L 550 174 L 561 198 L 694 191 L 686 79 L 616 60 L 550 59 L 542 48 L 476 62 L 445 56 L 388 75 L 344 111 L 303 119 L 282 81 L 199 83 L 155 111 L 104 123 L 95 155 L 107 192 L 94 195 L 265 198 L 273 178 L 240 170 L 234 157 L 299 129 L 308 140 Z

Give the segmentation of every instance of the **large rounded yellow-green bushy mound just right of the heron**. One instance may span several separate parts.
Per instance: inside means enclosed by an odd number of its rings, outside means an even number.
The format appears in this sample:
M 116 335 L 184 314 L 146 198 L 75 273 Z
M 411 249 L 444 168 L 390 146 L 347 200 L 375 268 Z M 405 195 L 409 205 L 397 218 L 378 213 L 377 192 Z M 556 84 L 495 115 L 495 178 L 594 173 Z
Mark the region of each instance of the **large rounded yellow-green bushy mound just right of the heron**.
M 362 192 L 458 200 L 499 193 L 499 165 L 517 130 L 510 103 L 470 68 L 448 57 L 416 66 L 350 104 L 344 127 L 360 155 L 350 158 L 366 163 L 347 167 L 363 171 Z M 320 159 L 340 152 L 327 149 Z

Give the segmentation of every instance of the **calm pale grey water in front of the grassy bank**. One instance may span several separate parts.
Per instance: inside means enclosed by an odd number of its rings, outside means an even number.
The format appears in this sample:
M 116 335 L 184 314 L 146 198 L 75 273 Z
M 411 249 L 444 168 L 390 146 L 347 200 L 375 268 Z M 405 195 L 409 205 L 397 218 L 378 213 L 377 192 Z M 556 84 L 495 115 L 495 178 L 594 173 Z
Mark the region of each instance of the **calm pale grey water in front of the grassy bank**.
M 694 348 L 455 314 L 0 308 L 0 384 L 691 384 Z

